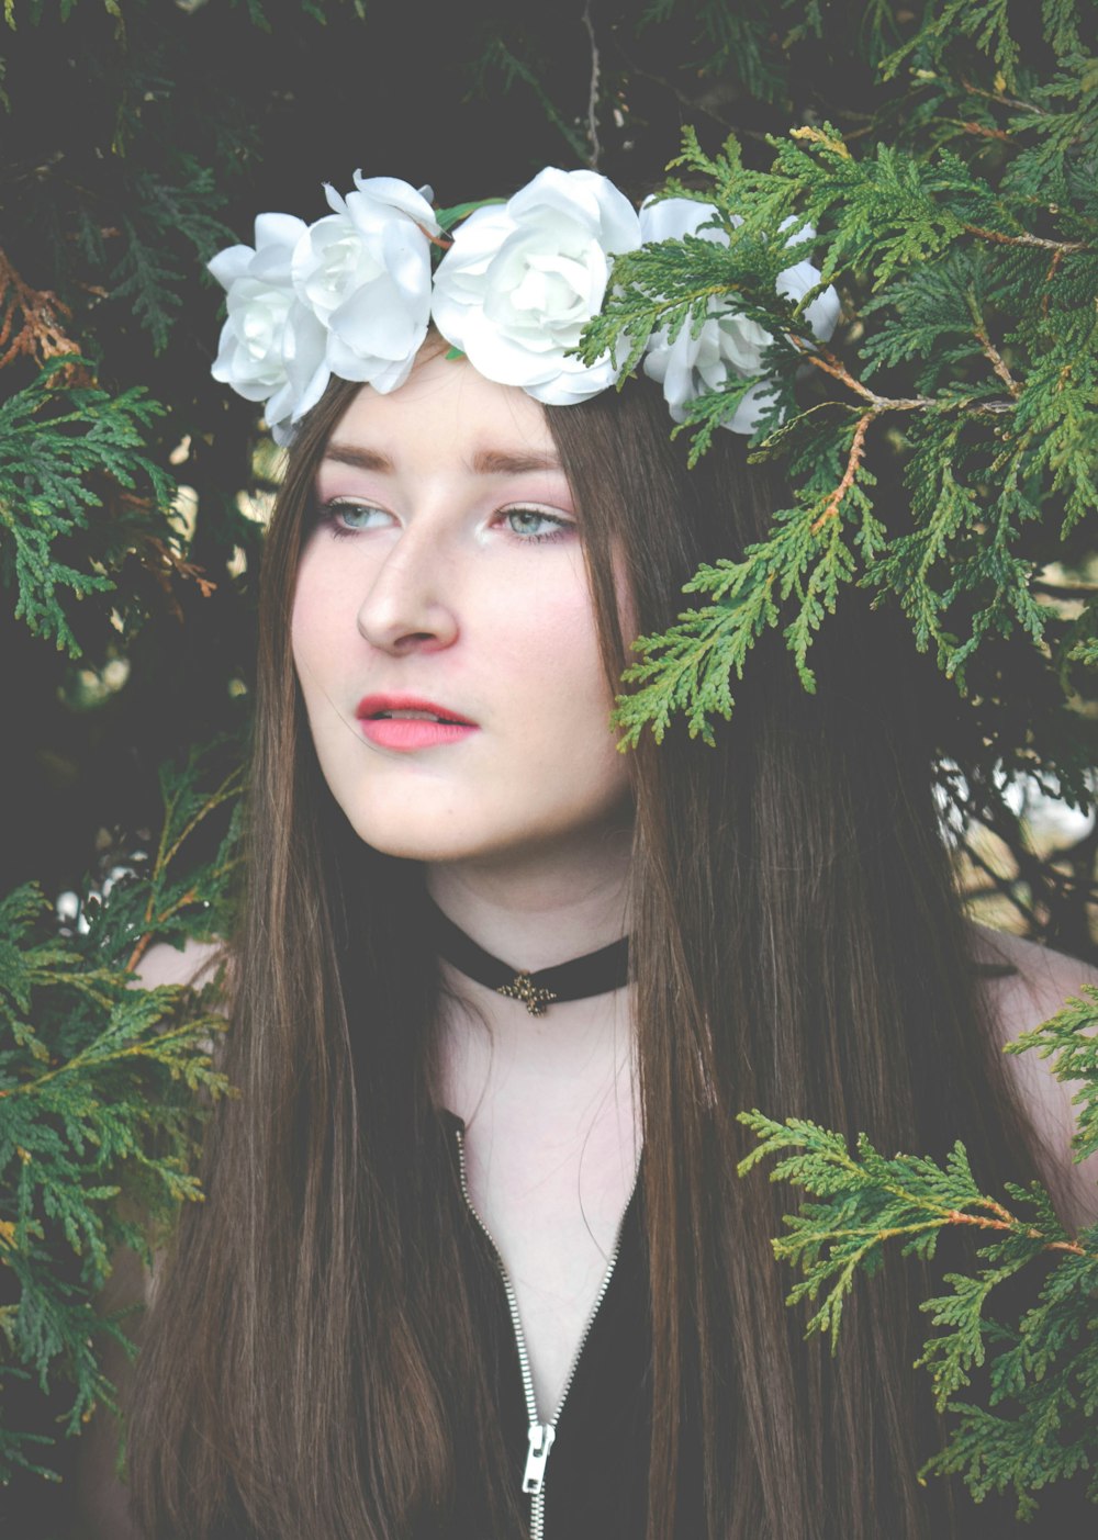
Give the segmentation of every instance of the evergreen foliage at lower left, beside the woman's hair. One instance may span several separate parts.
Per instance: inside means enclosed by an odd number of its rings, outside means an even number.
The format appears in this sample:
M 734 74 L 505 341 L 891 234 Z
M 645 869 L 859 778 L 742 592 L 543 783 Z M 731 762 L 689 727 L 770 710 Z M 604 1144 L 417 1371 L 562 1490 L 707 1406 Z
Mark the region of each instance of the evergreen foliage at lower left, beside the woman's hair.
M 151 939 L 225 930 L 236 824 L 209 865 L 179 870 L 182 847 L 239 784 L 234 775 L 203 790 L 202 772 L 202 756 L 165 772 L 146 875 L 91 893 L 72 935 L 59 936 L 34 884 L 0 902 L 0 1395 L 11 1403 L 17 1384 L 37 1386 L 69 1435 L 97 1404 L 115 1411 L 105 1341 L 134 1351 L 129 1312 L 100 1314 L 94 1297 L 120 1249 L 149 1266 L 179 1206 L 202 1197 L 200 1123 L 228 1090 L 213 1060 L 225 1026 L 216 984 L 134 987 Z M 0 1417 L 0 1483 L 17 1466 L 55 1475 L 52 1445 Z

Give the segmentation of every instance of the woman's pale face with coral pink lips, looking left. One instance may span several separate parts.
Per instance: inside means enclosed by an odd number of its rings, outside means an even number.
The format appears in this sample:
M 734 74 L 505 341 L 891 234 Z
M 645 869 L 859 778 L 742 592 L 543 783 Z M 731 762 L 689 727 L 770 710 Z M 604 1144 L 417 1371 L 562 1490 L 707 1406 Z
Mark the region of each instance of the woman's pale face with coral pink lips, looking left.
M 514 859 L 622 825 L 577 513 L 541 407 L 423 359 L 337 424 L 293 650 L 320 768 L 362 839 Z M 442 719 L 442 721 L 440 721 Z

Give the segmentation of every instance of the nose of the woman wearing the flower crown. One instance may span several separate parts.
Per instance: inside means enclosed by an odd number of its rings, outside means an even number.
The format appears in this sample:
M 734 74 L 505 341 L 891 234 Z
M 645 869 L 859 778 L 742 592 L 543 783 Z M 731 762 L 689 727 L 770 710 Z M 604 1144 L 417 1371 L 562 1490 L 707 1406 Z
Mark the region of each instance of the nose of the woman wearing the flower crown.
M 405 530 L 359 605 L 359 633 L 385 653 L 437 651 L 457 638 L 453 562 L 428 530 Z

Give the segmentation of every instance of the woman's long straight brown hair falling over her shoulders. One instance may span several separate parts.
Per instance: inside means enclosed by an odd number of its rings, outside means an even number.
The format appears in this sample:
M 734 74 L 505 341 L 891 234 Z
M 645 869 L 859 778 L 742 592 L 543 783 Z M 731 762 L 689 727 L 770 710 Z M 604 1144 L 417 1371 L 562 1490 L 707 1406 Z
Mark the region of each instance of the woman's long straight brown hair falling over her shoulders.
M 165 1263 L 129 1420 L 154 1540 L 442 1535 L 465 1458 L 493 1540 L 522 1532 L 445 1201 L 419 873 L 353 838 L 290 653 L 316 467 L 357 388 L 333 383 L 308 419 L 265 553 L 226 1063 L 242 1095 L 211 1127 L 206 1203 Z M 547 417 L 618 681 L 616 565 L 641 630 L 664 630 L 698 561 L 742 551 L 784 494 L 731 434 L 687 471 L 644 382 Z M 949 1494 L 915 1478 L 938 1440 L 912 1369 L 918 1274 L 858 1291 L 833 1361 L 805 1346 L 768 1247 L 778 1190 L 735 1173 L 736 1110 L 889 1150 L 941 1155 L 962 1135 L 986 1180 L 1032 1173 L 938 835 L 919 675 L 852 610 L 818 644 L 815 696 L 764 641 L 716 748 L 673 728 L 631 759 L 648 1540 L 685 1537 L 698 1460 L 690 1540 L 952 1529 Z

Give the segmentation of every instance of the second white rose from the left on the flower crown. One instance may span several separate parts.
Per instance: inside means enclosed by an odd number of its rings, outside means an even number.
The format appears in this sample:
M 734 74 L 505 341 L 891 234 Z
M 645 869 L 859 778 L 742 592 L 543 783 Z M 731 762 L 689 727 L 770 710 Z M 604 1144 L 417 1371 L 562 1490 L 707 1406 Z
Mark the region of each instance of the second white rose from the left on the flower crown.
M 326 333 L 325 362 L 345 380 L 382 394 L 408 379 L 431 314 L 431 243 L 439 233 L 423 194 L 394 177 L 354 172 L 345 199 L 325 188 L 334 211 L 297 240 L 291 277 L 297 299 Z

